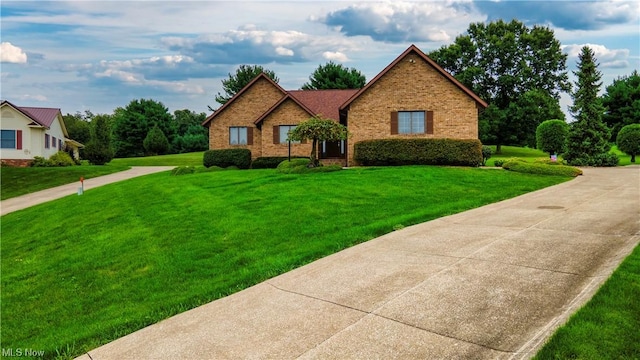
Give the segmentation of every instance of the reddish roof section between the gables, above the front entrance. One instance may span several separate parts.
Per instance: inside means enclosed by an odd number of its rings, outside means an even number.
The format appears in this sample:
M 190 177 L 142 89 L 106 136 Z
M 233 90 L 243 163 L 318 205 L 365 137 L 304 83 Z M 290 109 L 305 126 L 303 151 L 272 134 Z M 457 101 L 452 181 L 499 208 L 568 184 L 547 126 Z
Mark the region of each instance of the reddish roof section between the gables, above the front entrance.
M 340 121 L 340 105 L 358 90 L 291 90 L 287 93 L 309 108 L 314 115 Z

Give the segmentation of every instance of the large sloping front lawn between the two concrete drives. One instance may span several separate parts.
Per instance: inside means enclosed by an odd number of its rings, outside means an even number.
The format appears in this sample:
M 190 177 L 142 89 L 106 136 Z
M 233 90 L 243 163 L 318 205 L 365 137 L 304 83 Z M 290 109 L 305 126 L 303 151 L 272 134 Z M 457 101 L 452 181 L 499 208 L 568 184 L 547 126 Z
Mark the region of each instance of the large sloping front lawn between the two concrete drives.
M 77 356 L 394 228 L 568 179 L 416 166 L 106 185 L 2 217 L 0 340 Z

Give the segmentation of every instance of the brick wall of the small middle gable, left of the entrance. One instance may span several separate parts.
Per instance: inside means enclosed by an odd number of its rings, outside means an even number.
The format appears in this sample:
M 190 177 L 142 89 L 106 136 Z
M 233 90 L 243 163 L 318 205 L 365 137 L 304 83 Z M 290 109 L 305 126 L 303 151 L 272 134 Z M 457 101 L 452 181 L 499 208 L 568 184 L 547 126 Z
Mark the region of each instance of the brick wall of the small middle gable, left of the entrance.
M 291 99 L 287 99 L 280 104 L 262 122 L 262 156 L 287 156 L 289 154 L 289 145 L 287 143 L 273 143 L 274 126 L 296 125 L 309 118 L 311 118 L 311 115 Z M 310 153 L 310 141 L 306 144 L 291 144 L 291 156 L 309 156 Z

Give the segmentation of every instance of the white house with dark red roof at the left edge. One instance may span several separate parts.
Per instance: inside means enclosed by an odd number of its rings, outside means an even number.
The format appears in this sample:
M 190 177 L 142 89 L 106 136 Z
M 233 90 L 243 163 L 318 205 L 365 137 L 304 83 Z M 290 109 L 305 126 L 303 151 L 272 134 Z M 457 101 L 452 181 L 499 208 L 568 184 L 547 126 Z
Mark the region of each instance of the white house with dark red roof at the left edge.
M 60 150 L 78 159 L 77 141 L 69 139 L 60 109 L 16 106 L 2 100 L 0 159 L 14 166 L 27 166 L 35 156 L 48 159 Z

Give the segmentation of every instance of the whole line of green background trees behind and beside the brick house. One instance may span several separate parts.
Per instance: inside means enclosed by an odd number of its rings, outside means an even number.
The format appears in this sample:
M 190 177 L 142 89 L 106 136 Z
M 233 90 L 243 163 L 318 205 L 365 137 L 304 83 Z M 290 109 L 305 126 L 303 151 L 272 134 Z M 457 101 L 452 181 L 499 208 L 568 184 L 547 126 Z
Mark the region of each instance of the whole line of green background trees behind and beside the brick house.
M 527 27 L 517 20 L 473 23 L 451 45 L 427 55 L 489 104 L 480 113 L 479 137 L 484 144 L 496 145 L 498 152 L 502 145 L 536 147 L 536 129 L 542 122 L 566 122 L 560 108 L 561 93 L 573 98 L 569 110 L 576 121 L 569 124 L 567 142 L 573 148 L 563 151 L 567 151 L 569 159 L 580 159 L 575 163 L 586 165 L 595 156 L 594 151 L 608 152 L 609 144 L 615 142 L 625 125 L 640 123 L 638 71 L 616 79 L 606 87 L 604 95 L 598 96 L 601 73 L 593 51 L 585 47 L 575 72 L 578 81 L 572 85 L 567 55 L 548 27 Z M 279 81 L 275 72 L 262 66 L 241 65 L 222 80 L 223 92 L 215 96 L 215 101 L 224 105 L 261 73 Z M 358 89 L 365 84 L 365 76 L 357 69 L 329 61 L 318 66 L 301 89 Z M 211 106 L 209 110 L 215 111 Z M 95 130 L 85 125 L 102 116 L 106 117 L 103 122 L 109 128 L 110 148 L 116 157 L 208 147 L 207 130 L 200 126 L 206 114 L 177 110 L 172 115 L 162 103 L 145 99 L 133 100 L 113 115 L 67 114 L 70 136 L 90 143 Z M 583 144 L 580 150 L 576 149 L 578 144 Z

